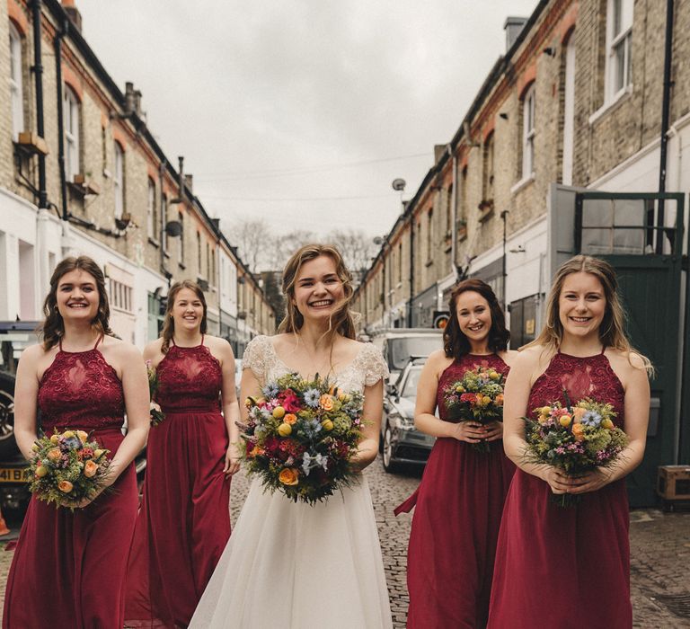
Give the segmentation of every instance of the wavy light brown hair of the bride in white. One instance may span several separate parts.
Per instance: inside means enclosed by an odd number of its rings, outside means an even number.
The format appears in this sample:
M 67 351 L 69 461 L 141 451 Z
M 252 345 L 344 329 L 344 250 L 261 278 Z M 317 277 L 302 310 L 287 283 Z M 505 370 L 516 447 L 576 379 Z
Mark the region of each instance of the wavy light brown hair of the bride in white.
M 342 282 L 342 289 L 345 295 L 341 303 L 337 305 L 335 312 L 331 315 L 328 332 L 326 333 L 338 332 L 348 339 L 354 339 L 357 336 L 357 332 L 355 331 L 354 319 L 349 310 L 352 295 L 355 292 L 354 288 L 352 288 L 352 275 L 345 266 L 341 252 L 332 244 L 305 244 L 293 253 L 288 260 L 283 270 L 283 295 L 285 295 L 286 314 L 285 318 L 280 322 L 278 332 L 298 332 L 305 323 L 304 316 L 297 310 L 297 306 L 292 301 L 295 297 L 295 282 L 302 265 L 322 255 L 327 255 L 335 263 L 335 272 Z

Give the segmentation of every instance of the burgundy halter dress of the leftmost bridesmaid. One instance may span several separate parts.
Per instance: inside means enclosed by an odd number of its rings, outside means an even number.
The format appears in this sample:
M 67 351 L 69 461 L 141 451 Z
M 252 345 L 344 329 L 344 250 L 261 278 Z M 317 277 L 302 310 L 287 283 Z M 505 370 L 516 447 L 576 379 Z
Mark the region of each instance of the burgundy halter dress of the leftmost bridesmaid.
M 40 381 L 41 423 L 47 434 L 93 432 L 112 457 L 123 439 L 124 396 L 96 347 L 66 352 L 60 346 Z M 137 518 L 134 465 L 112 490 L 74 513 L 31 499 L 7 578 L 4 629 L 121 629 Z

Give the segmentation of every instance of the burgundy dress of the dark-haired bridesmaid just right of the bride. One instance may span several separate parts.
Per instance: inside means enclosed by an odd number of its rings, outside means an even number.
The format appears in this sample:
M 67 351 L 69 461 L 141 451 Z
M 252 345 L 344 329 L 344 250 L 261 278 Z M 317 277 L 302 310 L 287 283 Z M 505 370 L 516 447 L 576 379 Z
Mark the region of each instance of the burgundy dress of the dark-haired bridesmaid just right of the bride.
M 495 354 L 453 362 L 438 378 L 442 420 L 447 417 L 443 390 L 475 367 L 504 375 L 509 370 Z M 480 452 L 464 441 L 437 439 L 419 488 L 395 509 L 407 512 L 416 503 L 407 554 L 408 627 L 486 625 L 500 515 L 515 471 L 501 440 L 489 446 L 489 452 Z

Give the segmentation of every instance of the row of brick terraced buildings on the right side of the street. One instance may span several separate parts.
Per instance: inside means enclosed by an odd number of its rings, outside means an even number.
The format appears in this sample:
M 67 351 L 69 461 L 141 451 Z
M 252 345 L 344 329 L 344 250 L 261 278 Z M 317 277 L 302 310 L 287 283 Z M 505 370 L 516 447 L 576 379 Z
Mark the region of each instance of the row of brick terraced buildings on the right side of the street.
M 665 190 L 690 186 L 689 25 L 688 0 L 542 0 L 528 18 L 509 18 L 505 54 L 362 279 L 362 326 L 430 325 L 470 276 L 506 306 L 513 346 L 532 340 L 560 191 L 659 190 L 668 37 Z M 667 212 L 668 225 L 674 218 Z

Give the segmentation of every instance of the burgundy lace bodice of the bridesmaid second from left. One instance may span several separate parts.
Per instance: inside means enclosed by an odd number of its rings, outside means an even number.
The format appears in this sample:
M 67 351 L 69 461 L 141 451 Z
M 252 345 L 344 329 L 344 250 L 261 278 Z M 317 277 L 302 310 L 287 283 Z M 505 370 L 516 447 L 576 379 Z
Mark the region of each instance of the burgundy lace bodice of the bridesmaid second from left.
M 155 401 L 163 412 L 213 412 L 220 408 L 223 372 L 208 347 L 170 346 L 156 368 Z

